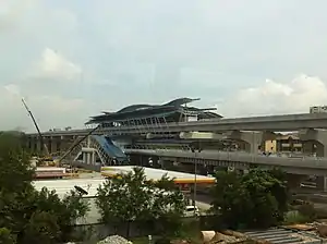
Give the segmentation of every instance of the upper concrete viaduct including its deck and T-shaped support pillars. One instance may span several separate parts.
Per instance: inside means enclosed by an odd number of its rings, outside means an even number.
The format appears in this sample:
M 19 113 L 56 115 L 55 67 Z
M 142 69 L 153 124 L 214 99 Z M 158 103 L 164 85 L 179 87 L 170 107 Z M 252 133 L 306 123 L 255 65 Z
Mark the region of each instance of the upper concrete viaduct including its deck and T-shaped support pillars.
M 78 136 L 86 135 L 90 129 L 44 132 L 45 142 L 51 152 L 64 151 Z M 150 138 L 153 135 L 179 133 L 179 137 L 194 139 L 234 139 L 246 144 L 246 151 L 257 154 L 263 141 L 274 139 L 274 132 L 299 131 L 303 150 L 311 152 L 316 145 L 319 157 L 327 157 L 327 113 L 304 113 L 286 115 L 251 117 L 237 119 L 215 119 L 207 121 L 154 124 L 153 126 L 101 127 L 94 134 L 129 137 L 132 135 Z M 27 145 L 34 150 L 41 146 L 36 133 L 27 134 Z M 326 146 L 325 146 L 326 145 Z

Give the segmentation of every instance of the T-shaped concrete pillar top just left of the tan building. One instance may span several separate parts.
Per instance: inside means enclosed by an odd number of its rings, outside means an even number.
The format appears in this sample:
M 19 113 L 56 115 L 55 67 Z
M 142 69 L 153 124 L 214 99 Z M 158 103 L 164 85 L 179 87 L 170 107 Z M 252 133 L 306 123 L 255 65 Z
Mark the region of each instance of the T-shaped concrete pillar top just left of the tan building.
M 272 132 L 244 132 L 231 131 L 225 134 L 226 138 L 242 141 L 245 144 L 245 150 L 251 154 L 257 154 L 262 149 L 263 143 L 267 139 L 275 139 L 276 134 Z

